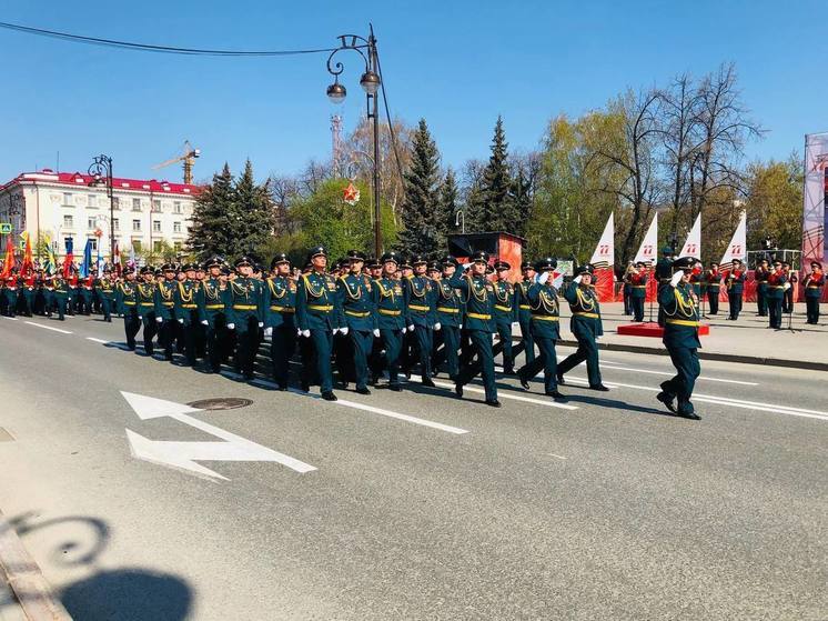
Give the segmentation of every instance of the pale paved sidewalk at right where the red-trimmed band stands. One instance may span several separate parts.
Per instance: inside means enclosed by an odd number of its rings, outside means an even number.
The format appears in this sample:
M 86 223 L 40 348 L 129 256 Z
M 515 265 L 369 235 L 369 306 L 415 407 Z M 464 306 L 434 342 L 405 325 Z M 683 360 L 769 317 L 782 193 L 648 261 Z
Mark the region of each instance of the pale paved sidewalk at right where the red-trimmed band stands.
M 824 304 L 825 309 L 825 304 Z M 828 310 L 828 309 L 825 309 Z M 667 354 L 662 339 L 649 337 L 620 337 L 618 325 L 632 323 L 633 318 L 623 314 L 624 304 L 612 302 L 600 306 L 604 320 L 604 337 L 598 340 L 600 349 Z M 710 334 L 701 337 L 699 357 L 707 360 L 725 360 L 749 364 L 771 364 L 828 371 L 828 317 L 820 318 L 819 325 L 805 322 L 805 304 L 794 308 L 794 331 L 787 330 L 788 315 L 782 317 L 781 331 L 768 328 L 767 317 L 756 317 L 756 303 L 746 303 L 738 321 L 727 321 L 728 306 L 719 304 L 715 317 L 703 319 L 710 325 Z M 654 304 L 653 319 L 657 318 L 658 307 Z M 561 308 L 562 344 L 575 344 L 569 331 L 569 307 Z M 644 320 L 649 320 L 649 304 L 645 308 Z M 519 334 L 519 330 L 516 331 Z

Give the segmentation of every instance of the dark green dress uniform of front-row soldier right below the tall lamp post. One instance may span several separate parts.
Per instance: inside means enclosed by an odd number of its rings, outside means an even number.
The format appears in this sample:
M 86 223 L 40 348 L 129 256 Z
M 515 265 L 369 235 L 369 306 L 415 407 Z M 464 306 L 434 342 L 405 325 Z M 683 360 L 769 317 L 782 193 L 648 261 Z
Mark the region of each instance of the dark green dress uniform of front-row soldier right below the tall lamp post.
M 383 257 L 383 262 L 387 257 Z M 380 338 L 385 350 L 385 365 L 388 369 L 388 388 L 400 390 L 400 353 L 403 350 L 403 334 L 408 325 L 405 293 L 398 280 L 387 277 L 374 280 L 373 292 Z M 375 377 L 382 372 L 380 363 L 381 360 L 377 359 L 377 367 L 373 369 Z

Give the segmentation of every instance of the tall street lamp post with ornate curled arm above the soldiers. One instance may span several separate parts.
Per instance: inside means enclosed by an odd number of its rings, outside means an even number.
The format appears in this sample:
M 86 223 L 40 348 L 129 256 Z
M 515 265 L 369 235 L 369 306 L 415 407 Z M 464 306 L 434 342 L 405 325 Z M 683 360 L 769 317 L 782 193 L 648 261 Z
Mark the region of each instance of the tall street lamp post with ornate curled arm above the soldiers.
M 340 47 L 327 57 L 327 72 L 334 77 L 334 82 L 327 87 L 327 98 L 333 103 L 342 103 L 347 91 L 340 83 L 340 74 L 344 71 L 341 62 L 333 62 L 334 57 L 342 50 L 354 50 L 365 61 L 365 72 L 360 78 L 360 86 L 365 91 L 368 120 L 373 120 L 374 129 L 374 253 L 382 254 L 382 227 L 380 212 L 380 102 L 378 91 L 381 87 L 378 57 L 376 54 L 376 39 L 374 27 L 370 27 L 368 38 L 359 34 L 340 34 Z

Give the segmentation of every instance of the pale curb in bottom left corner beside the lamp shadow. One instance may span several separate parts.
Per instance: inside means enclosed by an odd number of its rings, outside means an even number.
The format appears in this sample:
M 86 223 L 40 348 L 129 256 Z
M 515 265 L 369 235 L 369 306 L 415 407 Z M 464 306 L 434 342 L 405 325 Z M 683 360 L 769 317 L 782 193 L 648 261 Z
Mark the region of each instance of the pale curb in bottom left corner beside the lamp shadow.
M 0 511 L 0 572 L 11 588 L 23 618 L 29 621 L 71 621 L 54 599 L 38 563 Z

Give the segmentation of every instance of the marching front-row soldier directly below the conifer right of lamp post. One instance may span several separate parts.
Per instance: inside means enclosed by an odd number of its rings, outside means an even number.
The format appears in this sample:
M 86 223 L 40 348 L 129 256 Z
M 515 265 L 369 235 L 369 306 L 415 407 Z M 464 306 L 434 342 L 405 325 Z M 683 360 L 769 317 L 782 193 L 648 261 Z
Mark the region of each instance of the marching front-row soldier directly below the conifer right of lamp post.
M 427 261 L 422 254 L 412 258 L 414 273 L 403 279 L 403 291 L 407 307 L 408 332 L 412 334 L 413 345 L 420 355 L 420 372 L 423 385 L 434 388 L 432 380 L 432 349 L 434 347 L 434 330 L 440 330 L 440 322 L 435 321 L 435 293 L 432 281 L 425 276 Z M 410 367 L 414 361 L 410 354 Z M 408 369 L 406 369 L 407 374 Z

